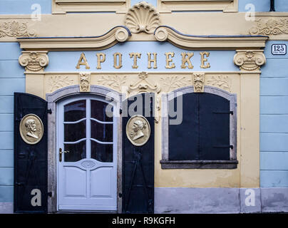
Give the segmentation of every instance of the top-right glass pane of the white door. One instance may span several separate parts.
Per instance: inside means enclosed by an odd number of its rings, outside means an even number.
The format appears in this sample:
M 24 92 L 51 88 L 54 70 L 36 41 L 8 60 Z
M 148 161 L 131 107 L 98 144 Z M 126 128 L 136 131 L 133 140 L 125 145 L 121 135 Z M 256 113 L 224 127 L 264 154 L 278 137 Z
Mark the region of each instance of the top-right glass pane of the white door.
M 111 110 L 113 111 L 113 106 L 109 105 L 106 113 L 107 105 L 108 103 L 104 103 L 99 100 L 91 100 L 91 118 L 95 118 L 103 122 L 113 122 L 113 117 L 109 117 L 113 115 L 113 113 L 111 113 Z

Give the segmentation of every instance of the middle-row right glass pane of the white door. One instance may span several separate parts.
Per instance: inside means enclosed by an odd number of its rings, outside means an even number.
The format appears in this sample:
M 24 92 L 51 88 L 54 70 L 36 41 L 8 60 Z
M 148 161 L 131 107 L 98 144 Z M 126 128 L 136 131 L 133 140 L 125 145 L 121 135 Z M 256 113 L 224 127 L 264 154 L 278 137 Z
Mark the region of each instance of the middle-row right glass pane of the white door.
M 103 124 L 91 120 L 91 138 L 101 142 L 113 142 L 113 124 Z

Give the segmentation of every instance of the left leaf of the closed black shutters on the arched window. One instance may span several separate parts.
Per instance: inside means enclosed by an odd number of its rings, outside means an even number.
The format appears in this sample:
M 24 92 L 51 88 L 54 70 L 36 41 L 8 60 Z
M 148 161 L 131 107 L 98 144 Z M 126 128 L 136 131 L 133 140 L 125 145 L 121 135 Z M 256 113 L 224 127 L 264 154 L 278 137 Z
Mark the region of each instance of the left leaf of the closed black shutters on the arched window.
M 177 98 L 170 100 L 169 107 L 173 107 L 173 103 L 174 111 L 182 112 L 182 123 L 169 125 L 169 160 L 198 160 L 198 95 L 197 93 L 182 95 L 182 110 L 176 110 Z

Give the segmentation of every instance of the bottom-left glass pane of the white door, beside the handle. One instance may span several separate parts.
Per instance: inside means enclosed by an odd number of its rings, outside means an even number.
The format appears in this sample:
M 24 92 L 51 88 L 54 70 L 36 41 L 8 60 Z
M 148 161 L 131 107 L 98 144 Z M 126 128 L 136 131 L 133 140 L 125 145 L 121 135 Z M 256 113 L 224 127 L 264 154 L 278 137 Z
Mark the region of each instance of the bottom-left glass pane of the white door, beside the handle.
M 86 158 L 86 140 L 76 144 L 64 144 L 64 150 L 69 151 L 63 153 L 65 162 L 77 162 L 84 159 Z

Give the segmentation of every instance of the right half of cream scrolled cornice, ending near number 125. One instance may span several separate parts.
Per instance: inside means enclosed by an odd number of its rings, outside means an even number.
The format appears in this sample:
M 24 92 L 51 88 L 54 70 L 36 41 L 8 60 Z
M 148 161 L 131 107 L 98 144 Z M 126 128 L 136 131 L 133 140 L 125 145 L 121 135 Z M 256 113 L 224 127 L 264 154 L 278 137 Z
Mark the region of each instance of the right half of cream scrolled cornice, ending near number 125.
M 159 26 L 154 36 L 158 41 L 169 41 L 174 46 L 187 50 L 264 48 L 268 39 L 266 36 L 192 36 L 169 26 Z

